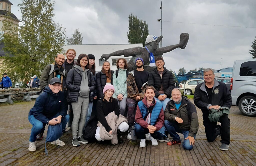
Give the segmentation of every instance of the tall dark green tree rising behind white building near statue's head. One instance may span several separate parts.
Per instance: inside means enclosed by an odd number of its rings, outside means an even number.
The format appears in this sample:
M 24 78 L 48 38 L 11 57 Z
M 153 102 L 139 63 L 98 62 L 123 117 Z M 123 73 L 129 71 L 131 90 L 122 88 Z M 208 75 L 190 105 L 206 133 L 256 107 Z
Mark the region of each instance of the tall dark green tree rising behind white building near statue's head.
M 145 47 L 145 41 L 148 33 L 148 26 L 146 21 L 137 18 L 137 16 L 129 15 L 129 32 L 127 32 L 128 42 L 131 44 L 134 43 L 143 43 Z

